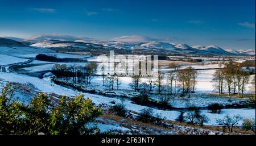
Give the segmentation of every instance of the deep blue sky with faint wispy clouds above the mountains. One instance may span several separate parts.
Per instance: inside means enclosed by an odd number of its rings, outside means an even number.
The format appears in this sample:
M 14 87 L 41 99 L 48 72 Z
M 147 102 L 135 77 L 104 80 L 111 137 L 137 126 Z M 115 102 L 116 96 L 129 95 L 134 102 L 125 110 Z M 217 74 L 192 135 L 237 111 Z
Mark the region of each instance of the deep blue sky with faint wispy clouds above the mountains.
M 0 0 L 0 36 L 141 35 L 191 45 L 255 49 L 255 0 Z

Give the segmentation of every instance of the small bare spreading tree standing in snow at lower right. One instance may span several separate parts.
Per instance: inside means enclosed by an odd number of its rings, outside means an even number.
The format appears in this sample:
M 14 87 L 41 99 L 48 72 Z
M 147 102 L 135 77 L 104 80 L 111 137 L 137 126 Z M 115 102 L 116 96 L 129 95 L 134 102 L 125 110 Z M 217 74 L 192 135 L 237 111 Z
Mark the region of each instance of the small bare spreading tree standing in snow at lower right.
M 225 115 L 224 119 L 217 119 L 216 122 L 220 125 L 228 127 L 228 130 L 230 132 L 233 132 L 233 127 L 236 126 L 236 124 L 242 120 L 242 117 L 240 115 L 234 115 L 233 118 L 229 116 L 228 114 Z

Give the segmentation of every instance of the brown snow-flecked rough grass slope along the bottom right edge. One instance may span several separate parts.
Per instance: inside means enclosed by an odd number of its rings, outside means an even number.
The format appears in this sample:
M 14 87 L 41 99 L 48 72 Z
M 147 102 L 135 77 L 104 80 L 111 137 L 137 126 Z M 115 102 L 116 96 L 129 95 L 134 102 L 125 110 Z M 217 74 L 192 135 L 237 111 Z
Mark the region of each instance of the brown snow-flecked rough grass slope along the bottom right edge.
M 215 131 L 218 134 L 254 134 L 252 131 L 244 131 L 241 127 L 234 127 L 233 132 L 229 132 L 227 128 L 222 126 L 192 126 L 188 123 L 180 123 L 171 120 L 164 120 L 167 123 L 167 127 L 158 126 L 150 123 L 143 123 L 131 118 L 124 118 L 122 116 L 111 114 L 109 111 L 105 111 L 102 115 L 103 119 L 111 120 L 117 123 L 119 126 L 128 128 L 130 131 L 117 131 L 119 134 L 175 134 L 175 135 L 187 135 L 191 133 L 195 134 L 209 134 L 209 131 Z M 109 123 L 111 124 L 111 123 Z M 113 124 L 113 123 L 112 123 Z M 183 128 L 182 128 L 183 127 Z M 185 129 L 185 130 L 183 130 Z M 201 132 L 200 132 L 201 131 Z

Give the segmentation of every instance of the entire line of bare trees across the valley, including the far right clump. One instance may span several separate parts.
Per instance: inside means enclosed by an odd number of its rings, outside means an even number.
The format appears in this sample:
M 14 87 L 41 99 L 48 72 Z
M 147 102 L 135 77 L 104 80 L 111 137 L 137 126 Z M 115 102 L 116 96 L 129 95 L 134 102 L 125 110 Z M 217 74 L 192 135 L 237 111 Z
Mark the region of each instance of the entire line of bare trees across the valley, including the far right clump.
M 156 73 L 156 76 L 148 75 L 146 84 L 149 86 L 148 91 L 152 91 L 153 87 L 156 87 L 158 94 L 166 93 L 166 87 L 168 86 L 168 94 L 176 95 L 177 89 L 181 92 L 181 96 L 191 93 L 195 93 L 196 78 L 199 75 L 196 69 L 191 66 L 185 69 L 180 69 L 176 64 L 170 64 L 169 68 L 172 70 L 167 73 L 163 73 L 160 68 Z M 85 84 L 88 86 L 96 74 L 97 64 L 92 62 L 82 65 L 71 65 L 55 64 L 53 66 L 53 72 L 57 77 L 63 77 L 66 81 L 72 79 L 73 83 Z M 246 84 L 249 83 L 250 73 L 244 71 L 241 66 L 229 62 L 224 68 L 220 68 L 214 72 L 214 87 L 218 90 L 218 94 L 224 94 L 224 90 L 227 89 L 228 94 L 237 94 L 243 97 Z M 106 73 L 101 74 L 103 86 L 109 86 L 111 90 L 116 87 L 119 90 L 121 85 L 121 76 L 117 74 L 109 75 Z M 131 87 L 135 91 L 141 90 L 142 75 L 132 76 Z M 255 82 L 255 77 L 254 80 Z M 253 82 L 253 83 L 254 83 Z M 252 84 L 255 86 L 254 84 Z M 178 88 L 177 88 L 178 86 Z

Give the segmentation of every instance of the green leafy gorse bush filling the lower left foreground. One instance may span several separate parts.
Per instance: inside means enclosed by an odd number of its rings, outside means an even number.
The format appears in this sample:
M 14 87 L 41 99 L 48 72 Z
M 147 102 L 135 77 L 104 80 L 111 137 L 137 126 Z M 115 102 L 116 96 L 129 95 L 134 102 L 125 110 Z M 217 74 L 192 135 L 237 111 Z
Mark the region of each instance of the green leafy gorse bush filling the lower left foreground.
M 85 124 L 93 122 L 102 110 L 84 95 L 63 96 L 53 102 L 41 93 L 24 105 L 13 97 L 14 91 L 9 83 L 0 94 L 0 134 L 80 135 L 97 131 Z

